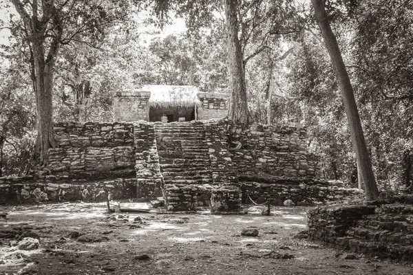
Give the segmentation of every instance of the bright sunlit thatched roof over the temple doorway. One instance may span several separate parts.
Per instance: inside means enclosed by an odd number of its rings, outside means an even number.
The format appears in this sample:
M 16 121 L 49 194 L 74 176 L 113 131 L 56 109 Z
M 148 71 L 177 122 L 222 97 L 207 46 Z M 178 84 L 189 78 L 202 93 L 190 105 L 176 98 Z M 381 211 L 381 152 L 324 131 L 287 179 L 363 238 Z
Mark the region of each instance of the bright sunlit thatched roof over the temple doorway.
M 193 107 L 200 106 L 198 98 L 200 90 L 195 86 L 173 86 L 173 85 L 144 85 L 140 89 L 150 91 L 150 107 Z

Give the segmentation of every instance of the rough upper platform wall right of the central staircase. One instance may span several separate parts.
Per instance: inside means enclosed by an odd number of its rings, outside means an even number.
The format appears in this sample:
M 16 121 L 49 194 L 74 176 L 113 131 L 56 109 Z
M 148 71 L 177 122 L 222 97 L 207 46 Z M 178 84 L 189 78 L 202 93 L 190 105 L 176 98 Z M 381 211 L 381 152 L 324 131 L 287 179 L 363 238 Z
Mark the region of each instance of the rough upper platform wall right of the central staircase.
M 253 124 L 229 124 L 229 147 L 238 174 L 317 177 L 317 157 L 306 151 L 306 130 Z

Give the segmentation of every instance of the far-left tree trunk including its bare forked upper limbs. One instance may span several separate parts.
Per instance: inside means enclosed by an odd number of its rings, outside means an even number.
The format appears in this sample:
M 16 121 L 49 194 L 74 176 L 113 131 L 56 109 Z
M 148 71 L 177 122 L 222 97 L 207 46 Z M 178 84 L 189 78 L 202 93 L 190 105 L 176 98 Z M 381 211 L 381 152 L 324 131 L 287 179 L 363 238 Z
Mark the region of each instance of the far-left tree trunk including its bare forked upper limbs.
M 32 2 L 32 13 L 25 10 L 25 4 L 19 0 L 10 0 L 20 14 L 27 32 L 30 47 L 30 65 L 34 94 L 36 98 L 37 140 L 36 151 L 39 153 L 40 164 L 47 164 L 47 150 L 55 146 L 52 131 L 53 107 L 53 67 L 59 54 L 63 25 L 55 1 Z M 41 8 L 41 12 L 39 12 Z M 39 19 L 41 16 L 41 19 Z M 46 32 L 52 37 L 46 37 Z M 47 49 L 47 56 L 45 56 Z

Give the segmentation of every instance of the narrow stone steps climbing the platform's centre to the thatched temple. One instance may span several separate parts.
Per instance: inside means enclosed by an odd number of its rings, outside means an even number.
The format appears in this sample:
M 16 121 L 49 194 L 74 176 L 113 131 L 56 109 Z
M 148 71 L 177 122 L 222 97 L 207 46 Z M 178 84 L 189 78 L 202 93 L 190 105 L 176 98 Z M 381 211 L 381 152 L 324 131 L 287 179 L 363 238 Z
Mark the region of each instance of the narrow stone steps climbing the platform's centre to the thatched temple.
M 155 123 L 154 128 L 165 184 L 211 183 L 209 148 L 202 123 Z

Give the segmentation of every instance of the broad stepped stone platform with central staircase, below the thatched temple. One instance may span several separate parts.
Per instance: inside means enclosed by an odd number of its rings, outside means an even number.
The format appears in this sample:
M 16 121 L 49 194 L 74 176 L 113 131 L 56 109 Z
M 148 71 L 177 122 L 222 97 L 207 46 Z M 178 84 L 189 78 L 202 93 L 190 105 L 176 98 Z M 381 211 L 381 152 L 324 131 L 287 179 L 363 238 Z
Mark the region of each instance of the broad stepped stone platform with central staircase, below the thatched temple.
M 49 150 L 43 173 L 0 178 L 1 204 L 104 201 L 111 192 L 113 199 L 164 196 L 169 211 L 193 211 L 227 186 L 240 190 L 242 203 L 273 205 L 287 199 L 314 205 L 360 193 L 317 179 L 306 131 L 290 126 L 60 122 L 54 136 L 59 148 Z M 233 210 L 231 203 L 218 211 Z

